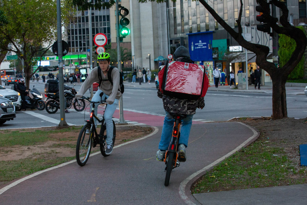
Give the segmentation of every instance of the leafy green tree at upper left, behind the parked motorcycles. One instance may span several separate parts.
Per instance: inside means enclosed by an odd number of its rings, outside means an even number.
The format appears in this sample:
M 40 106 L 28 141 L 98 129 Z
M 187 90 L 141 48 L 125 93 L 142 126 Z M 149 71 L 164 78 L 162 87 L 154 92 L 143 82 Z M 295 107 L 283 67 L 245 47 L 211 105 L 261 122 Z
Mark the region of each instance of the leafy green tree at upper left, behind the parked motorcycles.
M 68 1 L 61 1 L 63 25 L 70 14 Z M 0 39 L 9 42 L 6 47 L 0 43 L 0 49 L 15 52 L 23 59 L 23 70 L 29 86 L 29 79 L 34 74 L 32 66 L 37 63 L 33 58 L 43 56 L 56 41 L 56 0 L 0 0 L 0 5 L 10 22 L 0 27 Z

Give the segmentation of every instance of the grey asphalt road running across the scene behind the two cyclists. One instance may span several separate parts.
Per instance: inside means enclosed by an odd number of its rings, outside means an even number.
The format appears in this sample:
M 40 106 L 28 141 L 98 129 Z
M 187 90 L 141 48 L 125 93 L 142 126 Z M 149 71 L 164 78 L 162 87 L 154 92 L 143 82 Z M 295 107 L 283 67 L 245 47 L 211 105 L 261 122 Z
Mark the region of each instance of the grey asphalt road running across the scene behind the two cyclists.
M 32 85 L 35 85 L 35 88 L 41 93 L 44 92 L 44 84 L 30 83 L 30 88 L 32 88 Z M 80 85 L 76 85 L 75 88 L 79 90 Z M 89 96 L 89 92 L 85 96 Z M 272 96 L 270 93 L 230 93 L 209 90 L 205 97 L 205 104 L 204 109 L 196 110 L 193 120 L 225 121 L 237 116 L 271 116 L 272 114 Z M 157 90 L 154 88 L 126 86 L 123 94 L 123 108 L 127 110 L 124 112 L 125 120 L 137 124 L 146 121 L 145 124 L 159 126 L 163 122 L 163 115 L 165 115 L 162 100 L 157 97 Z M 307 97 L 305 95 L 287 95 L 287 109 L 289 117 L 306 118 Z M 81 125 L 88 118 L 89 107 L 87 107 L 85 113 L 76 112 L 73 107 L 70 111 L 65 115 L 66 122 L 72 125 Z M 102 107 L 99 107 L 99 113 L 103 114 Z M 151 114 L 148 115 L 148 113 Z M 60 111 L 49 114 L 46 110 L 28 109 L 26 112 L 17 111 L 16 116 L 14 120 L 3 124 L 0 129 L 55 126 L 59 124 Z M 115 112 L 114 117 L 119 118 L 119 111 Z

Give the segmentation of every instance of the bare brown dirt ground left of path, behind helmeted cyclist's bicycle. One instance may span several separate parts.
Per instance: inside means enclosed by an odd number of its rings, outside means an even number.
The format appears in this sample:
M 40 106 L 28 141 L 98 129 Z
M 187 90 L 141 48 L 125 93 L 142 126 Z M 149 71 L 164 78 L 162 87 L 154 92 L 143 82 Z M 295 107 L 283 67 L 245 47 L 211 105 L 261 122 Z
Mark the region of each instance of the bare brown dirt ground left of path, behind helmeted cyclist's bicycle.
M 36 128 L 36 130 L 55 130 L 57 128 Z M 57 157 L 69 157 L 76 155 L 76 142 L 81 127 L 76 127 L 76 130 L 70 132 L 50 133 L 50 140 L 44 143 L 39 143 L 33 146 L 4 147 L 0 150 L 0 161 L 20 160 L 24 158 L 35 158 L 38 155 L 48 153 L 45 155 L 48 159 L 55 159 Z M 19 129 L 20 130 L 20 129 Z M 33 129 L 22 129 L 19 132 L 35 132 Z M 18 131 L 14 129 L 11 131 Z M 99 133 L 100 128 L 97 129 Z M 142 136 L 146 136 L 152 132 L 150 127 L 140 127 L 134 125 L 116 126 L 115 145 L 122 144 L 126 141 L 134 140 Z M 0 132 L 1 133 L 1 132 Z M 92 148 L 92 151 L 99 150 L 99 147 Z

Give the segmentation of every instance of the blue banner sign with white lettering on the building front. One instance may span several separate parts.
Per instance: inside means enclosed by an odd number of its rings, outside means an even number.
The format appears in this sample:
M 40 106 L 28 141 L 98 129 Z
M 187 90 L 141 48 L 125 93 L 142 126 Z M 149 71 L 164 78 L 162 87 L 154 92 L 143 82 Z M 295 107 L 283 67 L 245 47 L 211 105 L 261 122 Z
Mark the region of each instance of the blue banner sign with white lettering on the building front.
M 192 61 L 212 61 L 213 32 L 187 34 Z

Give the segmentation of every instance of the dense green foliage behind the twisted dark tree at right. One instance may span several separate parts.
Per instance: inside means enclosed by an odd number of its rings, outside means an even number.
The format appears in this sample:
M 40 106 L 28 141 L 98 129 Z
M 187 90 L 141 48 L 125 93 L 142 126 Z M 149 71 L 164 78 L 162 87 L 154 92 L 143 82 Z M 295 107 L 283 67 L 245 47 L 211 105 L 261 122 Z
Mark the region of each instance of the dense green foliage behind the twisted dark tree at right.
M 302 26 L 298 26 L 298 28 L 304 31 L 305 33 L 305 29 Z M 278 43 L 279 43 L 278 56 L 279 56 L 280 67 L 282 67 L 289 61 L 291 54 L 295 50 L 296 43 L 293 40 L 293 38 L 290 38 L 289 36 L 283 34 L 279 34 Z M 305 56 L 301 58 L 301 61 L 290 73 L 288 79 L 289 80 L 302 79 L 304 77 L 304 64 L 305 64 Z

